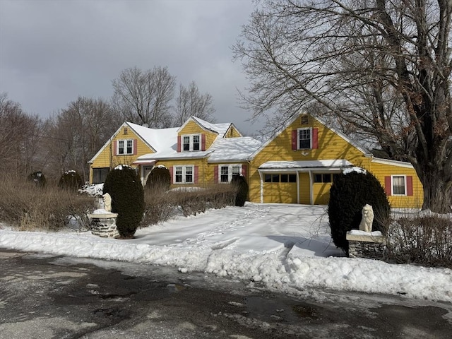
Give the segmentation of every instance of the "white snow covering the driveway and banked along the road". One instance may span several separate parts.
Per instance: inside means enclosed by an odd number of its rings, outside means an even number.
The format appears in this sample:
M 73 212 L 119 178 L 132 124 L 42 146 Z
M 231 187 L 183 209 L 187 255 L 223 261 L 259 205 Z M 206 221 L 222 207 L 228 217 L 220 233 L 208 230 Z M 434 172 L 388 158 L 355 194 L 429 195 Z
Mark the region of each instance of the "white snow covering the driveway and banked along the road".
M 452 302 L 452 270 L 345 258 L 329 233 L 325 206 L 246 203 L 179 216 L 131 240 L 0 230 L 0 247 L 174 266 L 285 292 L 328 288 Z

